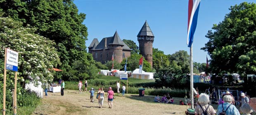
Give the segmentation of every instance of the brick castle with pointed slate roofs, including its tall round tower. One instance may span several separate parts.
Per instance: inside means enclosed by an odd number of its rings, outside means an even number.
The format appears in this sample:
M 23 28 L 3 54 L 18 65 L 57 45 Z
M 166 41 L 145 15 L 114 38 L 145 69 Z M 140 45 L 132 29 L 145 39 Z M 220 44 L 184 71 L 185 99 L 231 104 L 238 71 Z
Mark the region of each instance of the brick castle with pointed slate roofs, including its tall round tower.
M 145 21 L 140 29 L 140 32 L 137 35 L 137 40 L 139 41 L 140 54 L 145 57 L 152 67 L 154 34 L 147 21 Z M 121 63 L 124 58 L 130 57 L 131 51 L 131 49 L 120 39 L 117 32 L 115 32 L 113 37 L 105 37 L 100 42 L 97 38 L 93 39 L 88 49 L 89 53 L 92 53 L 94 60 L 101 63 L 111 60 L 112 55 L 114 55 L 114 60 Z

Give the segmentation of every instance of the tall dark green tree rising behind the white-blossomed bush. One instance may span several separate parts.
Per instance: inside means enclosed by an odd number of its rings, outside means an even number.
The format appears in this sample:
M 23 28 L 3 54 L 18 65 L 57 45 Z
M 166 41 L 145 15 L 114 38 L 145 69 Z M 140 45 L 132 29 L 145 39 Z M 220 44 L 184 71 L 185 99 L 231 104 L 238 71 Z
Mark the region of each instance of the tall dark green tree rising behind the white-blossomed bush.
M 92 55 L 86 53 L 88 32 L 82 24 L 85 14 L 78 14 L 73 0 L 1 0 L 0 9 L 5 12 L 3 16 L 22 21 L 24 26 L 29 24 L 36 28 L 35 33 L 56 42 L 64 77 L 76 60 L 86 66 L 94 63 Z

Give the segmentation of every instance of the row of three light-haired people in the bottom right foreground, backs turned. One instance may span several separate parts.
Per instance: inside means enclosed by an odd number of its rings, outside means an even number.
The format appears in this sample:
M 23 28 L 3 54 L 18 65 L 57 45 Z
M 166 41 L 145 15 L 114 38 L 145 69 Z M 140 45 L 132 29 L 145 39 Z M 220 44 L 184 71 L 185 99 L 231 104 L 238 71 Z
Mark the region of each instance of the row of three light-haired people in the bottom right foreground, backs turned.
M 244 93 L 241 93 L 241 97 L 241 112 L 243 113 L 243 115 L 251 115 L 250 113 L 254 112 L 254 109 L 249 105 L 248 97 L 246 97 Z M 236 108 L 234 104 L 232 104 L 234 103 L 234 97 L 232 96 L 232 94 L 230 94 L 230 92 L 226 92 L 225 95 L 223 95 L 222 100 L 220 101 L 221 102 L 218 105 L 218 109 L 216 112 L 214 108 L 211 105 L 209 105 L 209 95 L 205 93 L 200 94 L 197 106 L 195 108 L 195 115 L 202 115 L 202 113 L 207 113 L 207 115 L 240 115 L 239 110 Z M 256 103 L 254 102 L 251 104 Z

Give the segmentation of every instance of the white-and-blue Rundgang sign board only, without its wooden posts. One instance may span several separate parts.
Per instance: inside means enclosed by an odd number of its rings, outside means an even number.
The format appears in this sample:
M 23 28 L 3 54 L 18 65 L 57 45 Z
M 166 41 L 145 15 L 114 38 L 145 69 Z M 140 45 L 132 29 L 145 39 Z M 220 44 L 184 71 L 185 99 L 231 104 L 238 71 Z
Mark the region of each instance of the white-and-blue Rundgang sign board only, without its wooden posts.
M 12 71 L 18 71 L 18 52 L 15 52 L 11 49 L 7 48 L 7 54 L 6 54 L 6 69 L 12 70 Z

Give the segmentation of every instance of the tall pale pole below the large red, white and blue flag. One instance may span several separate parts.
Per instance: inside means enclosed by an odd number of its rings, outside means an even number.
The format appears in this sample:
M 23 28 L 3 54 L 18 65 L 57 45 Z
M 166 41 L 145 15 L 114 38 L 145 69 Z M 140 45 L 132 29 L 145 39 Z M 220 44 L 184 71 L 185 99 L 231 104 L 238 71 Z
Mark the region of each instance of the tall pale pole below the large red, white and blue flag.
M 194 109 L 194 92 L 193 92 L 193 44 L 190 47 L 190 100 L 191 108 Z

